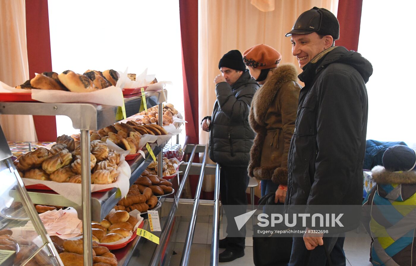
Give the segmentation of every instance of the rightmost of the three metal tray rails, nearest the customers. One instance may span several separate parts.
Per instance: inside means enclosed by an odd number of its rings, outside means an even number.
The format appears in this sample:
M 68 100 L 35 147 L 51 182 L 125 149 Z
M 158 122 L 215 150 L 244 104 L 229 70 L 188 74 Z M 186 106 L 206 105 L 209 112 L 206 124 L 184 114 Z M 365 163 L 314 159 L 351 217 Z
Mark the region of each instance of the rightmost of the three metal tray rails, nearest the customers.
M 219 222 L 219 211 L 220 211 L 220 165 L 217 164 L 217 168 L 215 169 L 215 188 L 214 188 L 214 215 L 213 215 L 213 222 L 212 222 L 212 241 L 211 241 L 211 265 L 218 265 L 218 241 L 219 241 L 219 230 L 218 230 L 218 222 Z

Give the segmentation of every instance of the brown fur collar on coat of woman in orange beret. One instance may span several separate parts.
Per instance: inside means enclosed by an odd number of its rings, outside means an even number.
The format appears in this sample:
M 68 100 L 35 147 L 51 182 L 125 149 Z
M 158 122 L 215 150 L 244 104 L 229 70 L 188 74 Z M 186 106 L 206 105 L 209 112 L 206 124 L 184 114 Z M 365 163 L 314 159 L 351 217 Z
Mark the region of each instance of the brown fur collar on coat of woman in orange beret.
M 264 117 L 269 109 L 270 103 L 275 100 L 279 88 L 288 81 L 297 81 L 297 70 L 292 64 L 278 66 L 269 80 L 257 90 L 253 97 L 254 119 L 264 125 Z

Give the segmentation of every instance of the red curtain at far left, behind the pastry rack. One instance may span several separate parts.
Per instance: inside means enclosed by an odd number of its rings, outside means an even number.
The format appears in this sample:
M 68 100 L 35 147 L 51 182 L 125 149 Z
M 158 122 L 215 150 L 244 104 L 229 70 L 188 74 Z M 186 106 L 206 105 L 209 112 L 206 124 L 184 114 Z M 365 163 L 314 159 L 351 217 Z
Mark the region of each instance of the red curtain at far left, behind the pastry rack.
M 29 78 L 36 73 L 52 71 L 47 0 L 26 0 L 26 38 Z M 55 141 L 57 137 L 54 116 L 34 115 L 38 141 Z

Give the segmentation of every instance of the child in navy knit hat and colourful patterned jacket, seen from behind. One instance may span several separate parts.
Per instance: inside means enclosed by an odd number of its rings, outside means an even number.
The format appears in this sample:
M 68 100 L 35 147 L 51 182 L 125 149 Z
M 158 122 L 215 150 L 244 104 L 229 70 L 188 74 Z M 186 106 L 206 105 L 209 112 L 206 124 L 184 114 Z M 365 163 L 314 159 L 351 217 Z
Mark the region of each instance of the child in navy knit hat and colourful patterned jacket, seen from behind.
M 382 162 L 371 170 L 377 185 L 362 208 L 362 223 L 371 236 L 370 261 L 416 265 L 416 153 L 396 145 L 386 149 Z

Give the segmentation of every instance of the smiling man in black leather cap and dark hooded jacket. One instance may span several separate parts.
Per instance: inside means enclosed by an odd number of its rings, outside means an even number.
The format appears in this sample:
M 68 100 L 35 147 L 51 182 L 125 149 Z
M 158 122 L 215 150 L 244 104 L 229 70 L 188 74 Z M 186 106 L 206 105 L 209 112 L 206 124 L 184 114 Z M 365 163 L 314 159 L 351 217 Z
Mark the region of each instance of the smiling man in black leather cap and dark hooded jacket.
M 360 205 L 371 63 L 335 46 L 339 23 L 324 8 L 303 12 L 286 37 L 291 37 L 305 87 L 288 156 L 285 204 L 307 205 L 306 212 L 313 205 Z M 358 225 L 357 220 L 346 229 Z M 344 237 L 308 233 L 293 238 L 289 265 L 324 266 L 324 242 L 333 265 L 345 265 Z

